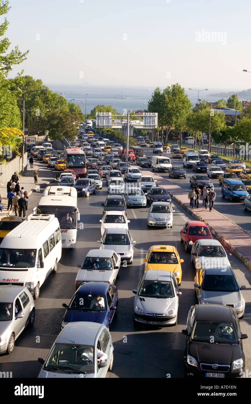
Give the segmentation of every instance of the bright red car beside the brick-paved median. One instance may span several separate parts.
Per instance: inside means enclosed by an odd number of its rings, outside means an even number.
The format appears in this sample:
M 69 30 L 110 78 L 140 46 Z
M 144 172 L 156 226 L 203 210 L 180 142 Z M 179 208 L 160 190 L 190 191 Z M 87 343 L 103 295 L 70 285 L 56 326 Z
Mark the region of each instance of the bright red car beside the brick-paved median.
M 196 240 L 205 238 L 212 239 L 213 236 L 204 222 L 194 220 L 186 222 L 180 231 L 180 242 L 185 243 L 186 252 L 191 251 L 192 244 L 194 244 Z

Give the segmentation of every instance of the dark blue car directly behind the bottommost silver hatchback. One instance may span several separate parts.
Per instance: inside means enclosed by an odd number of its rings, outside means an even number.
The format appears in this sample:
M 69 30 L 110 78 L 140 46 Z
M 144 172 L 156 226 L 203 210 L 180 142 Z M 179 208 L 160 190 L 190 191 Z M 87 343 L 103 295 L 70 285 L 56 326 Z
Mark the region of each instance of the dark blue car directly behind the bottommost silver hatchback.
M 71 322 L 88 321 L 104 324 L 108 329 L 118 314 L 116 286 L 106 282 L 86 282 L 79 286 L 62 319 L 61 330 Z

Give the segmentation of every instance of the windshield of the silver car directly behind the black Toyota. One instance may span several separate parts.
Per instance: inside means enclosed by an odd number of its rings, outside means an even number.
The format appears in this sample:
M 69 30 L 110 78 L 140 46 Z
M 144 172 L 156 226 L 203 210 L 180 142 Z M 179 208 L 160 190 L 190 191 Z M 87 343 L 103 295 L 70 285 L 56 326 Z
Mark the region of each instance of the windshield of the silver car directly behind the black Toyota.
M 238 292 L 239 287 L 234 276 L 229 275 L 205 275 L 203 290 L 209 292 Z

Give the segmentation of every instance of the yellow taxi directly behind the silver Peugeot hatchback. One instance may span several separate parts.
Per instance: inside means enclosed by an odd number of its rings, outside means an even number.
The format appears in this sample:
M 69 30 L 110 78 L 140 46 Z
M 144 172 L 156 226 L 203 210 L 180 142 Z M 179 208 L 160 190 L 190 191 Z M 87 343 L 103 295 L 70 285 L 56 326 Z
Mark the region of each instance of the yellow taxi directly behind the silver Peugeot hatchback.
M 145 262 L 144 271 L 147 271 L 148 269 L 171 271 L 180 285 L 182 276 L 180 264 L 184 262 L 184 260 L 180 259 L 178 251 L 174 246 L 151 246 L 146 253 L 146 258 L 144 258 L 143 261 Z

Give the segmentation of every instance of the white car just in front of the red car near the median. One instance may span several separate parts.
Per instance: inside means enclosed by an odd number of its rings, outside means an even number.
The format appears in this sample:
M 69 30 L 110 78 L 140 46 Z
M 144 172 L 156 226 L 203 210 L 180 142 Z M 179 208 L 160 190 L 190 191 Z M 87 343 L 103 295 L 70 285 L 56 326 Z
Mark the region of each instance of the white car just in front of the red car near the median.
M 219 268 L 231 267 L 226 251 L 218 240 L 199 239 L 192 244 L 191 262 L 195 268 Z

